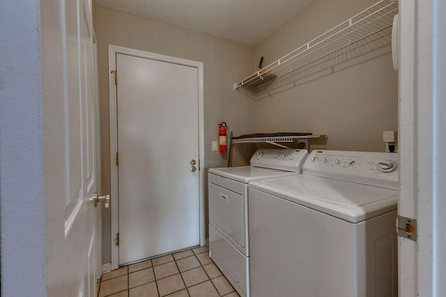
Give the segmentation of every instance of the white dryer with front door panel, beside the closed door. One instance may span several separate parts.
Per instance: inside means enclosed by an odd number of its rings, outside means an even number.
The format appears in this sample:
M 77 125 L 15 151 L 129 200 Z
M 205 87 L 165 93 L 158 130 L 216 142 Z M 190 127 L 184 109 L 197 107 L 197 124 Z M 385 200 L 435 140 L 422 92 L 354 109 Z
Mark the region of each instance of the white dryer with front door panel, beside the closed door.
M 261 149 L 251 166 L 209 169 L 209 255 L 240 296 L 250 296 L 247 184 L 300 174 L 307 156 L 307 150 Z

